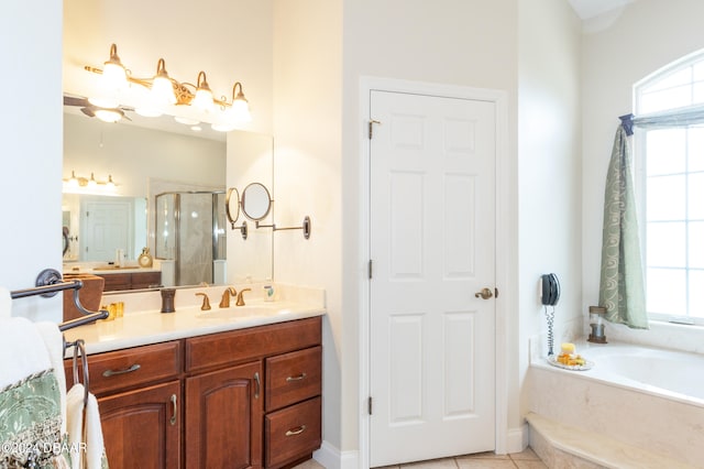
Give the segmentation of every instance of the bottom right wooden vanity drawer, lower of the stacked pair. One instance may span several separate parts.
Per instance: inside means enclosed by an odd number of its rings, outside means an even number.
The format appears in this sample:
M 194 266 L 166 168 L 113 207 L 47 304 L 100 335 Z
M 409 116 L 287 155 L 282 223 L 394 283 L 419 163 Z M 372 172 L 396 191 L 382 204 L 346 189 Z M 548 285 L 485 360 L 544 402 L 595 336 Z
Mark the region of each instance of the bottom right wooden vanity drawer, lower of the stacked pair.
M 265 463 L 280 467 L 320 447 L 320 397 L 273 412 L 265 417 Z

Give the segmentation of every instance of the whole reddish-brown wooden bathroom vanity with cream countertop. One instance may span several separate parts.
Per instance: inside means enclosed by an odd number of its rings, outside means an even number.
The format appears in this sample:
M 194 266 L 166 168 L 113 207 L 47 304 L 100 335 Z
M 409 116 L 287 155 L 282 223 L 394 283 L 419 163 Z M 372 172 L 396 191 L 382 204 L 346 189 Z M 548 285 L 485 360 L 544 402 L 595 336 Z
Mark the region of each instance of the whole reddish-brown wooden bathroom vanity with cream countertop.
M 283 468 L 320 447 L 324 312 L 212 313 L 177 307 L 70 331 L 86 339 L 110 466 Z M 70 386 L 72 360 L 66 377 Z

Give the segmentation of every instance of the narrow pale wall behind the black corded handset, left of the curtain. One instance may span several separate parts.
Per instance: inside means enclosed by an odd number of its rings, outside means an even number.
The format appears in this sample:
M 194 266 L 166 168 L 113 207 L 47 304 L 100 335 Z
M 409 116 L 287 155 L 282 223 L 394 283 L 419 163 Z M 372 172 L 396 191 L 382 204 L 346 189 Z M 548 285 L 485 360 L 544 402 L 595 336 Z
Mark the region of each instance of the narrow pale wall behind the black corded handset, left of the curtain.
M 518 83 L 519 334 L 512 390 L 524 390 L 529 339 L 547 321 L 538 296 L 541 274 L 558 274 L 554 341 L 582 335 L 581 21 L 561 0 L 520 2 Z M 513 395 L 513 394 L 509 394 Z M 530 408 L 509 400 L 509 415 Z M 518 406 L 518 408 L 515 408 Z

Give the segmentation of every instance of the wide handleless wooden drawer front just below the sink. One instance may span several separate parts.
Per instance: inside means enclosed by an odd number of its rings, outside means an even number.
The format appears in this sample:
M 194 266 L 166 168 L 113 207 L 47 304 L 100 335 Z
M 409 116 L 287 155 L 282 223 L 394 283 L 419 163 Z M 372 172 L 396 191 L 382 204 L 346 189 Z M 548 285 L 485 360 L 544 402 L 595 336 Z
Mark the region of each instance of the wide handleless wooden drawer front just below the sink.
M 186 371 L 207 371 L 320 345 L 321 324 L 320 317 L 312 317 L 188 338 Z

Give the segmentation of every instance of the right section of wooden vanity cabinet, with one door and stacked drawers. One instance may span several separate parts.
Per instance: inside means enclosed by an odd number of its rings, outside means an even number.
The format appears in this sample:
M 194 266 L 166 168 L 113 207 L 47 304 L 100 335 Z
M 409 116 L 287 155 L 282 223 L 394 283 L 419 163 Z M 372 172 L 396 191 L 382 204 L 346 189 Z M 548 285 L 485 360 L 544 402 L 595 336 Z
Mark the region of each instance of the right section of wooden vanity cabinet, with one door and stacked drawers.
M 321 443 L 321 341 L 320 317 L 186 339 L 186 467 L 280 468 L 310 458 Z M 287 418 L 270 413 L 280 407 Z

